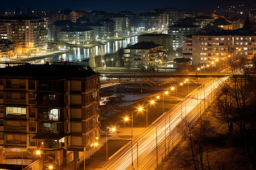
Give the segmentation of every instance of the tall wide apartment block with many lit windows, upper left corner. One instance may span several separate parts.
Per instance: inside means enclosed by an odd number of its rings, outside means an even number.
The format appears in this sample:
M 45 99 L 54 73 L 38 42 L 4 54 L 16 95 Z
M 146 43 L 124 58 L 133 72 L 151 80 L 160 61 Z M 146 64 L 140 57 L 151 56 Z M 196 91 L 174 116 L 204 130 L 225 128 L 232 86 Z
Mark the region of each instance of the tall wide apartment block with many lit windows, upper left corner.
M 46 47 L 47 22 L 36 16 L 0 16 L 0 37 L 14 42 L 17 54 Z

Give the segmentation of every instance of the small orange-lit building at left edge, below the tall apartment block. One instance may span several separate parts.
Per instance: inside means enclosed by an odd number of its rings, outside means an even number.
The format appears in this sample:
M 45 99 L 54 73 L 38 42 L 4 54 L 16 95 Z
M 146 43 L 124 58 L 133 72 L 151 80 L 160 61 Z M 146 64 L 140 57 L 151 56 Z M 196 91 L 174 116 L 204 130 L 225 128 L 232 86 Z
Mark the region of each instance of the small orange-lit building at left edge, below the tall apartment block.
M 16 58 L 16 45 L 9 41 L 0 41 L 0 61 Z

